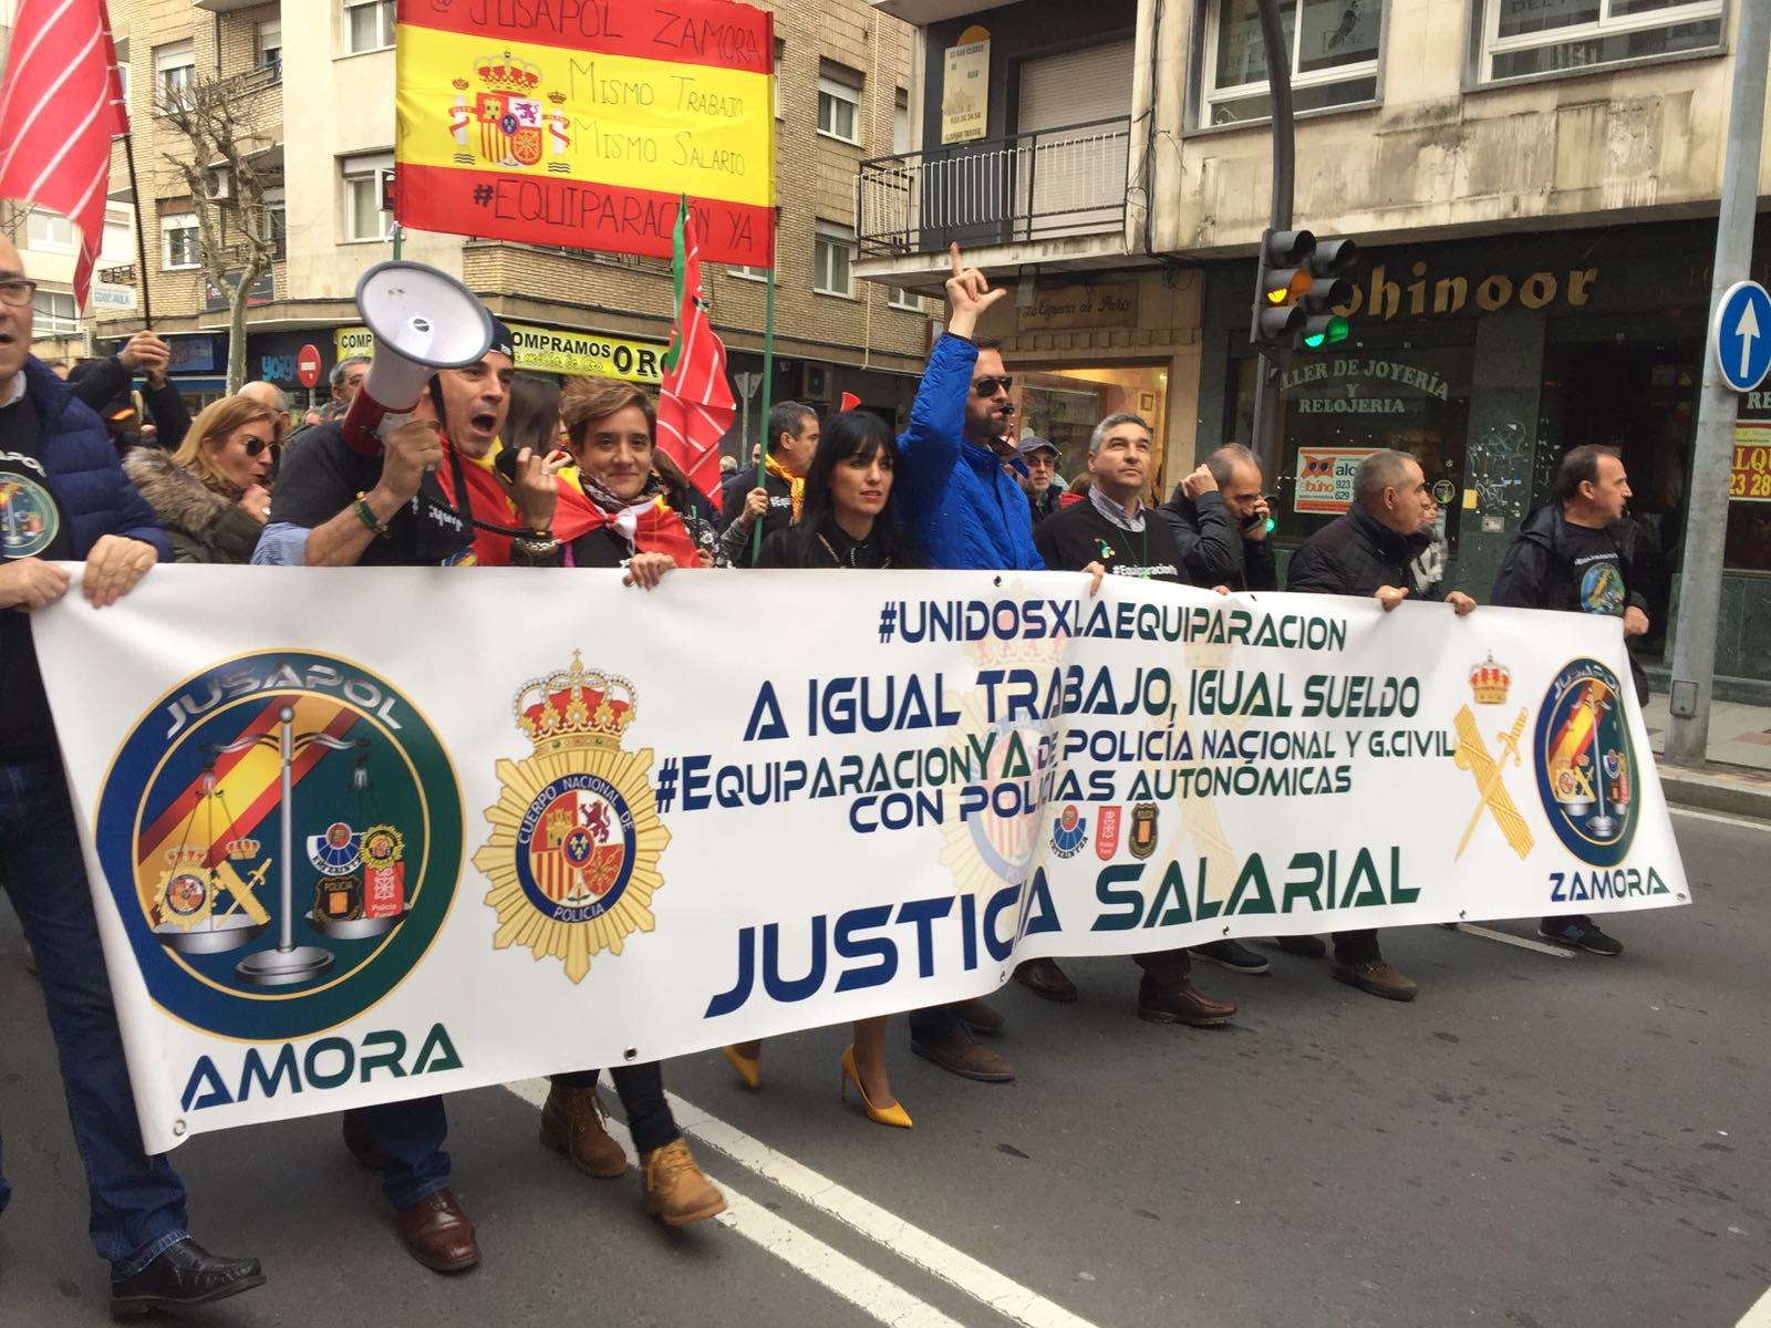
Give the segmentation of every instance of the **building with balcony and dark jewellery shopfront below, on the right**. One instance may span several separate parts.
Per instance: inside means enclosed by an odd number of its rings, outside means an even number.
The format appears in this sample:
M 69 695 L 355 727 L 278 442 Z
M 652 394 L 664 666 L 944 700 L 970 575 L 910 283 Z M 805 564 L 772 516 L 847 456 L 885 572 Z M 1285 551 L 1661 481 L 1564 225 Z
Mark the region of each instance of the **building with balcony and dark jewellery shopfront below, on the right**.
M 1280 0 L 1295 223 L 1362 246 L 1350 338 L 1280 381 L 1280 547 L 1337 506 L 1300 475 L 1399 446 L 1442 498 L 1454 584 L 1481 595 L 1562 452 L 1608 443 L 1665 646 L 1744 2 Z M 917 27 L 921 142 L 857 175 L 861 274 L 935 290 L 958 239 L 1013 285 L 986 331 L 1071 471 L 1114 409 L 1148 407 L 1167 485 L 1249 441 L 1272 182 L 1256 0 L 880 5 Z M 1771 227 L 1759 255 L 1764 280 Z M 1771 439 L 1771 393 L 1741 418 Z M 1746 490 L 1718 669 L 1771 680 L 1771 494 Z

